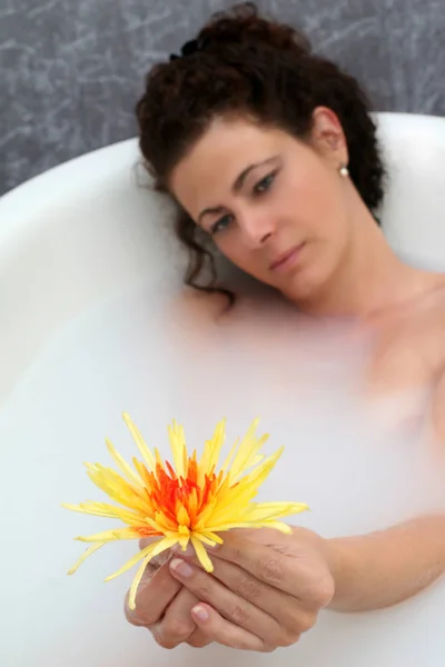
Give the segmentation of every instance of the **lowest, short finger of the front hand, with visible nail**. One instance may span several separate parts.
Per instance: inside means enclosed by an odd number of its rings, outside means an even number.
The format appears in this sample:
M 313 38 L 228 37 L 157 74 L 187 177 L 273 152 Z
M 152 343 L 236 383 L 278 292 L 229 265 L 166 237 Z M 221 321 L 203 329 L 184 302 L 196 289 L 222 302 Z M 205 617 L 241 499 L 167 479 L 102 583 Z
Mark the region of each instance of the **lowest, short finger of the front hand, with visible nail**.
M 260 637 L 222 618 L 209 605 L 199 603 L 199 605 L 194 607 L 191 614 L 198 627 L 212 641 L 239 650 L 261 653 L 269 653 L 271 650 L 271 647 Z

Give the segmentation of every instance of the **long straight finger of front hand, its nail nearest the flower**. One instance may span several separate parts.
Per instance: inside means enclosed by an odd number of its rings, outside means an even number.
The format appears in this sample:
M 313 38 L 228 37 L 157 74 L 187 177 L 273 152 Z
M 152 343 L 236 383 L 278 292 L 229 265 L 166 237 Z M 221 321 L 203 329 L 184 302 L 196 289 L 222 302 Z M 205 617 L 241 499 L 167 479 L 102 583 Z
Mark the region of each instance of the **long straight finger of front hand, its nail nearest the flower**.
M 211 605 L 225 619 L 249 633 L 264 637 L 268 644 L 277 645 L 279 643 L 281 629 L 276 619 L 237 596 L 222 586 L 218 579 L 180 558 L 171 560 L 170 569 L 188 590 L 195 594 L 200 601 Z

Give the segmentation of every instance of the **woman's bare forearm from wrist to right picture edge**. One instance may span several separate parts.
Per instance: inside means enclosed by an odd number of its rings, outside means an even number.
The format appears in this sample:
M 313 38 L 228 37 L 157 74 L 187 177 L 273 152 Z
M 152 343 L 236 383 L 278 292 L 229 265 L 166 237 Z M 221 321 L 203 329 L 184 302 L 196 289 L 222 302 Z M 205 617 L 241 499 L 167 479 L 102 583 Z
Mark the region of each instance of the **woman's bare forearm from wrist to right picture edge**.
M 445 514 L 363 537 L 326 541 L 335 580 L 330 608 L 367 611 L 406 600 L 445 574 Z

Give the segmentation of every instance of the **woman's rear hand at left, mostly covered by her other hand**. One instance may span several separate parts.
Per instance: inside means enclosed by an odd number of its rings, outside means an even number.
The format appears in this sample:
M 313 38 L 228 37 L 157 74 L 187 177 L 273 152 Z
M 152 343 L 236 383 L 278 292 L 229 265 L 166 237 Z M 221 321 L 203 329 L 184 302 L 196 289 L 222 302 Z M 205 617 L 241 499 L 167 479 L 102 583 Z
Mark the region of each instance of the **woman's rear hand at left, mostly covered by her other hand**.
M 141 540 L 140 547 L 145 548 L 149 541 Z M 199 600 L 171 576 L 170 558 L 171 554 L 165 552 L 147 566 L 139 584 L 135 610 L 129 608 L 127 595 L 127 620 L 150 630 L 157 644 L 164 648 L 175 648 L 184 643 L 202 648 L 211 639 L 197 629 L 191 616 L 191 609 Z

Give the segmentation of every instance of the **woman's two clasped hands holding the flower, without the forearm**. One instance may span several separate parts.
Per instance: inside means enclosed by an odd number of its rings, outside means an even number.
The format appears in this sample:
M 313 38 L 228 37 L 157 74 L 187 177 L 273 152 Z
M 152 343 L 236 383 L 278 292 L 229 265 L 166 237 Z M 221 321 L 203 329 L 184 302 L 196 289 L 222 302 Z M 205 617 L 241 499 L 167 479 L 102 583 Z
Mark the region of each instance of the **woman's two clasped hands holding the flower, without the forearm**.
M 323 544 L 298 528 L 293 535 L 235 530 L 214 551 L 212 574 L 201 569 L 192 551 L 174 558 L 164 554 L 147 567 L 136 609 L 126 605 L 127 619 L 147 627 L 165 648 L 201 648 L 212 641 L 259 651 L 289 646 L 334 594 Z M 191 576 L 180 574 L 178 561 L 191 568 Z

